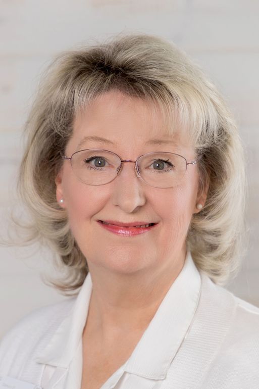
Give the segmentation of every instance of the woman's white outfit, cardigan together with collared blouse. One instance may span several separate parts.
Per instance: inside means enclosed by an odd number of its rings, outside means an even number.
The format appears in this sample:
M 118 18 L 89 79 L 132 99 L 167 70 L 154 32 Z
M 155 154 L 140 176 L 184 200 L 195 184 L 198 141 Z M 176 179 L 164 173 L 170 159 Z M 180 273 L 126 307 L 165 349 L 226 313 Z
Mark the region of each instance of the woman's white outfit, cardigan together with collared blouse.
M 33 311 L 5 335 L 0 388 L 80 389 L 91 290 L 88 273 L 77 297 Z M 214 284 L 187 253 L 130 358 L 101 387 L 112 388 L 258 389 L 259 308 Z

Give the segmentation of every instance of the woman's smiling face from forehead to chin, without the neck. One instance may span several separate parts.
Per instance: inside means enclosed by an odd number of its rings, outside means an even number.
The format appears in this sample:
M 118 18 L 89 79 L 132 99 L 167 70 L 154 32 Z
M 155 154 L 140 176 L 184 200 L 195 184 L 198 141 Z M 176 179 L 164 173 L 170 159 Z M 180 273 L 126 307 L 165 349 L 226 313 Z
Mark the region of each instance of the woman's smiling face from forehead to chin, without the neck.
M 141 99 L 119 91 L 102 94 L 74 121 L 66 156 L 83 149 L 106 149 L 122 160 L 136 160 L 149 152 L 172 152 L 187 162 L 195 158 L 184 136 L 168 135 L 159 111 Z M 107 143 L 83 140 L 99 136 Z M 147 145 L 151 139 L 165 143 Z M 113 142 L 113 144 L 111 143 Z M 78 145 L 80 143 L 80 148 Z M 198 169 L 188 165 L 178 186 L 155 188 L 136 176 L 133 163 L 124 163 L 120 174 L 105 185 L 88 185 L 74 175 L 70 161 L 64 161 L 56 179 L 57 201 L 64 199 L 71 231 L 85 255 L 89 269 L 102 267 L 117 273 L 166 269 L 176 258 L 185 258 L 185 239 L 196 205 L 205 201 L 198 196 Z M 103 227 L 99 220 L 124 223 L 157 223 L 144 233 L 122 235 Z

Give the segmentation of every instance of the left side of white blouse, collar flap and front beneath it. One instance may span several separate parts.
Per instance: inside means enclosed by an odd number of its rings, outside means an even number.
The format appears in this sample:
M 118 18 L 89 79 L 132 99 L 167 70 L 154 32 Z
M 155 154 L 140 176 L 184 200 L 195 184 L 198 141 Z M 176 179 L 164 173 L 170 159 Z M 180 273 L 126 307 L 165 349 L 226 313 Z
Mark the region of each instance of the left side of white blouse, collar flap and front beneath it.
M 56 328 L 48 344 L 34 359 L 44 365 L 44 389 L 80 389 L 82 374 L 82 332 L 86 322 L 92 282 L 87 274 L 68 316 Z M 70 386 L 69 386 L 70 385 Z

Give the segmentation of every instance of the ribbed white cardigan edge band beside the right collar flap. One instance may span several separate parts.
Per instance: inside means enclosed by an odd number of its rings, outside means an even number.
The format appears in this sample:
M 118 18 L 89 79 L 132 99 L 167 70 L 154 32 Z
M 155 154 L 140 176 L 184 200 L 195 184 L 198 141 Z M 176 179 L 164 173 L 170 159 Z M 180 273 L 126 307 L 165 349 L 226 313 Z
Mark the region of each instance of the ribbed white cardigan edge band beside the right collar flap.
M 203 388 L 237 307 L 233 295 L 201 272 L 201 296 L 193 323 L 174 358 L 161 389 Z

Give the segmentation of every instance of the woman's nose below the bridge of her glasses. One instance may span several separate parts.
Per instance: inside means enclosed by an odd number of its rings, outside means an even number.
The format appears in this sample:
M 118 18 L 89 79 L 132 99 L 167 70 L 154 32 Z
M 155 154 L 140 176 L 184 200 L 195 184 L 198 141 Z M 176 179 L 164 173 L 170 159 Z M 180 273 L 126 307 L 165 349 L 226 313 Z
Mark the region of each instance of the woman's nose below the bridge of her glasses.
M 125 163 L 132 162 L 132 163 Z M 119 206 L 124 212 L 132 213 L 146 202 L 144 194 L 145 183 L 139 177 L 134 161 L 122 161 L 121 169 L 113 181 L 113 205 Z

